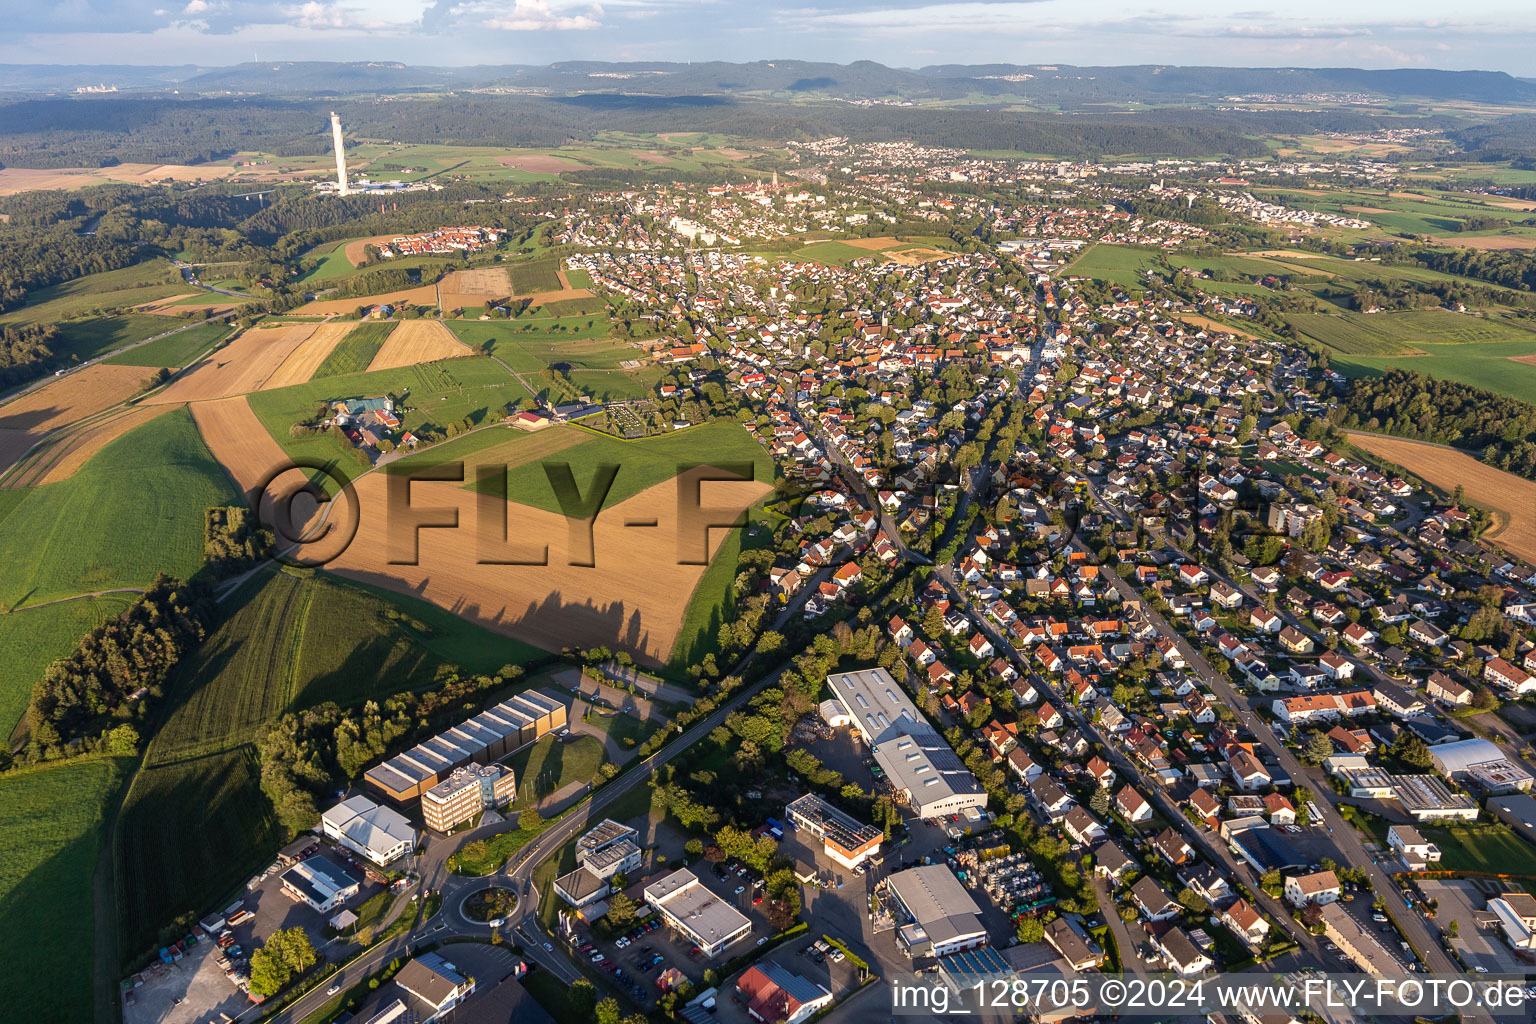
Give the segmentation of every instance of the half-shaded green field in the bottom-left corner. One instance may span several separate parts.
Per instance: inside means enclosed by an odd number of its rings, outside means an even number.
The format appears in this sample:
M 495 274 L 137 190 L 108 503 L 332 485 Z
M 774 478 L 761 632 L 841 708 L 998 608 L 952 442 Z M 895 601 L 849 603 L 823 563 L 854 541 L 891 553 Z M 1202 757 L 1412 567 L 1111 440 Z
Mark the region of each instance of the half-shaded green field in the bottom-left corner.
M 92 877 L 131 761 L 88 758 L 0 775 L 0 1004 L 35 1024 L 92 1019 Z

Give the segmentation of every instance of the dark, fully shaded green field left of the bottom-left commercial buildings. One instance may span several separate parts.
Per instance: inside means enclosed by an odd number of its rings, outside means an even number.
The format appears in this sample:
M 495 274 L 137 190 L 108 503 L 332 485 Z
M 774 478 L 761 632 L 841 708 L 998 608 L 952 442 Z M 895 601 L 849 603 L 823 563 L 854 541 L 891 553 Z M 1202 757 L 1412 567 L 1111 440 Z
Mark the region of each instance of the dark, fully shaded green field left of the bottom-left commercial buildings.
M 118 953 L 132 963 L 174 920 L 223 907 L 272 861 L 283 834 L 241 748 L 146 768 L 118 817 Z

